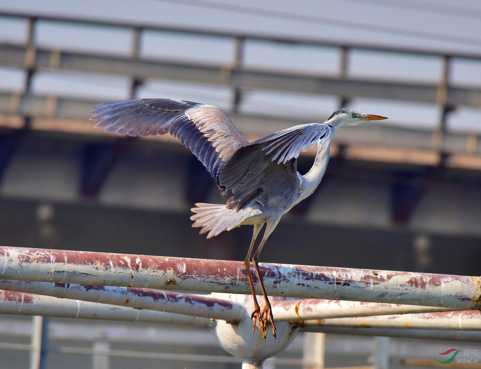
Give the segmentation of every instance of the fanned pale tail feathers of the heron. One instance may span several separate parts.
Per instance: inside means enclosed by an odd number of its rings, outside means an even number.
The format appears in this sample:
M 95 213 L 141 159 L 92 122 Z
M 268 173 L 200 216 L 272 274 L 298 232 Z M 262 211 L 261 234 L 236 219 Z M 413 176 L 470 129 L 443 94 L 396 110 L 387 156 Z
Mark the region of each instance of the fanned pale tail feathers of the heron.
M 195 220 L 192 227 L 202 227 L 200 233 L 207 233 L 207 238 L 217 236 L 224 230 L 231 230 L 239 226 L 247 218 L 262 214 L 262 211 L 248 207 L 240 210 L 228 209 L 226 205 L 198 203 L 190 210 L 195 215 L 191 220 Z

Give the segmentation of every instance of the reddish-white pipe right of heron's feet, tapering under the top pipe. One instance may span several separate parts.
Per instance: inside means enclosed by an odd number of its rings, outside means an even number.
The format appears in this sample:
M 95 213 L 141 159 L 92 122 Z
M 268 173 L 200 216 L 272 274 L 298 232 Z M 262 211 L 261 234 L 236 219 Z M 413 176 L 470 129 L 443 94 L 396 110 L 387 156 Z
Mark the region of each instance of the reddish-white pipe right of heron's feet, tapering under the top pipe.
M 274 301 L 271 305 L 272 314 L 276 317 L 276 321 L 370 317 L 376 315 L 430 313 L 456 310 L 448 307 L 322 299 Z

